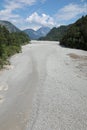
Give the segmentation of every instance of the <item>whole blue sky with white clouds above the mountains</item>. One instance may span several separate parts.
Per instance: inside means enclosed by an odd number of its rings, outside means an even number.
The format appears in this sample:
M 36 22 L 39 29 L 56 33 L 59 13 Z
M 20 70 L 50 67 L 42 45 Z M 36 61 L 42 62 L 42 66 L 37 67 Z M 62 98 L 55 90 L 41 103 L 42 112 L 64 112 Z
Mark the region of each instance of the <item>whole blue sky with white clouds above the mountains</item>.
M 21 30 L 58 27 L 87 15 L 87 0 L 0 0 L 0 20 Z

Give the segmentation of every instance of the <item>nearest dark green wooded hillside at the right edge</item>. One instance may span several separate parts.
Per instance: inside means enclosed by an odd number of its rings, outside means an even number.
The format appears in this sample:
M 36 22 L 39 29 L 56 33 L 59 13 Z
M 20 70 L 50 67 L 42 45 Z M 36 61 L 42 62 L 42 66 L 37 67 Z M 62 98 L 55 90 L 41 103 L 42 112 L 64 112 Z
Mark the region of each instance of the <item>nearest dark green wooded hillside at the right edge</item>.
M 87 15 L 70 26 L 60 45 L 87 50 Z

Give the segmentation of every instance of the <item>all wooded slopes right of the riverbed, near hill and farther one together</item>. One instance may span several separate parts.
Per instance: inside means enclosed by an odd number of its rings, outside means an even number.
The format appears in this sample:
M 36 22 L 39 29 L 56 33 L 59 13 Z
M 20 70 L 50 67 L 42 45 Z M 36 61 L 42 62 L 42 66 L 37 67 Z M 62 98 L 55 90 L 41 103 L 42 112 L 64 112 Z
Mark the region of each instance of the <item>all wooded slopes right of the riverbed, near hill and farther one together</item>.
M 39 40 L 60 41 L 60 45 L 87 50 L 87 15 L 74 24 L 53 28 Z

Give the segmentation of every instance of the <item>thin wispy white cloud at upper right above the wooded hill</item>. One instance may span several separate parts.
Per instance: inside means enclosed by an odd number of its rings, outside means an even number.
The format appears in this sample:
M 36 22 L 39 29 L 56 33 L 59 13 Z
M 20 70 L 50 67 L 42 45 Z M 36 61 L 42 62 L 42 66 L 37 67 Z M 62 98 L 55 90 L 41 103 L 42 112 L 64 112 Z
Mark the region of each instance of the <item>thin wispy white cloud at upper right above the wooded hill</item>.
M 56 14 L 58 21 L 69 21 L 76 18 L 78 15 L 83 15 L 87 13 L 87 4 L 69 4 L 63 7 Z

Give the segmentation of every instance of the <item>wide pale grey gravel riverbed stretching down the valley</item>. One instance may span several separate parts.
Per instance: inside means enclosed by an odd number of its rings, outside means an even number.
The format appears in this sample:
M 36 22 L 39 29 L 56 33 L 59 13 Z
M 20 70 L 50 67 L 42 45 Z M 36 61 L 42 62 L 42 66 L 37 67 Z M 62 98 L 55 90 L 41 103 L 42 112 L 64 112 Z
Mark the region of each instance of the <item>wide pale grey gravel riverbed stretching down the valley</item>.
M 0 71 L 0 130 L 86 130 L 87 51 L 31 43 Z

